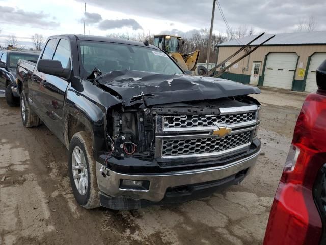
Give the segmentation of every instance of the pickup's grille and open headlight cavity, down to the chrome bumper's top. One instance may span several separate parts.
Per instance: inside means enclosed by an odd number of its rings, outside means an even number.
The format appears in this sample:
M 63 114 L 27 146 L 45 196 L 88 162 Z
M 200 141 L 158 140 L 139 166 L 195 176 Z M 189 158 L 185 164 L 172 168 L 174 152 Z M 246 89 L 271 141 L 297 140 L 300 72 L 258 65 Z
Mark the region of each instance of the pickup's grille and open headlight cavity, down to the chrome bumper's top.
M 161 172 L 221 165 L 259 148 L 253 144 L 259 110 L 259 103 L 246 95 L 109 109 L 111 152 L 105 163 L 117 171 L 138 173 L 145 168 Z

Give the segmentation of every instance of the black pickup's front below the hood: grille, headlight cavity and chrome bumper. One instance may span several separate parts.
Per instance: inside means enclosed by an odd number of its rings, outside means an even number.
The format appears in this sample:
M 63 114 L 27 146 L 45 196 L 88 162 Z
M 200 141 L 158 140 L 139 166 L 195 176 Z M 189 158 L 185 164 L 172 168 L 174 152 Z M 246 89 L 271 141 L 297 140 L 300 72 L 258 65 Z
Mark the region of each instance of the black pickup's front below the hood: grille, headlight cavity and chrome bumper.
M 259 111 L 249 96 L 109 110 L 101 205 L 180 203 L 240 183 L 260 152 Z

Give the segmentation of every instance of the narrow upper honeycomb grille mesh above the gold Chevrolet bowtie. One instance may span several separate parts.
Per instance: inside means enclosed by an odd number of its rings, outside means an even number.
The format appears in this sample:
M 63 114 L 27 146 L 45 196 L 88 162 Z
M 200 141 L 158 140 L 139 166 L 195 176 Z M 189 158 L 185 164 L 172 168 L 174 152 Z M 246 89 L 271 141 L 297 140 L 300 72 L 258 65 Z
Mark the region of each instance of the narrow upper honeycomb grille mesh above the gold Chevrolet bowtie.
M 256 112 L 228 115 L 183 115 L 165 116 L 164 128 L 208 127 L 216 124 L 237 124 L 255 120 Z

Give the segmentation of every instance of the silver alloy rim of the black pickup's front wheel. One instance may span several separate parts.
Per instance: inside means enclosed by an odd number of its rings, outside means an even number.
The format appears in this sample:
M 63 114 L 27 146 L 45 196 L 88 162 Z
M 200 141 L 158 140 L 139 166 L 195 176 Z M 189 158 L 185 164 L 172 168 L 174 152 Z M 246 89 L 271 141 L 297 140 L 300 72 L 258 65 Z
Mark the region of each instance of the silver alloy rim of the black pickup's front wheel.
M 78 146 L 73 149 L 71 160 L 72 176 L 76 188 L 79 194 L 85 195 L 88 189 L 87 165 L 84 153 Z

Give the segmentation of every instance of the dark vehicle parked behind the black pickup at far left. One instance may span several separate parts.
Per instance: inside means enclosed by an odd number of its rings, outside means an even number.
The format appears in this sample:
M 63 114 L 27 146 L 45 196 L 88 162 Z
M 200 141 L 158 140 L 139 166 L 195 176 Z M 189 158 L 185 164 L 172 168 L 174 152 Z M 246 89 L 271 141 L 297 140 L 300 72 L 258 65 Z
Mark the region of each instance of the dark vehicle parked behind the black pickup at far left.
M 0 58 L 0 90 L 5 90 L 10 106 L 19 105 L 19 92 L 16 83 L 16 67 L 19 59 L 36 63 L 39 54 L 3 50 Z

